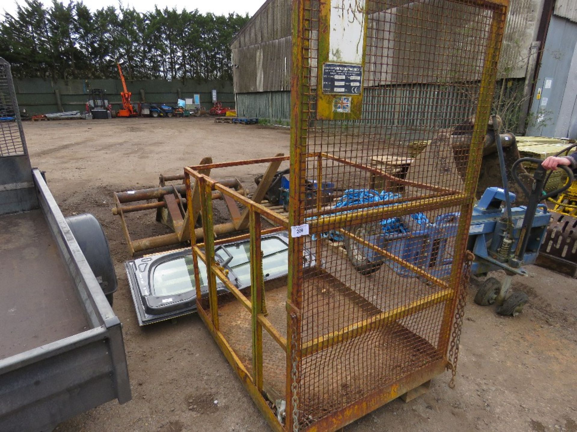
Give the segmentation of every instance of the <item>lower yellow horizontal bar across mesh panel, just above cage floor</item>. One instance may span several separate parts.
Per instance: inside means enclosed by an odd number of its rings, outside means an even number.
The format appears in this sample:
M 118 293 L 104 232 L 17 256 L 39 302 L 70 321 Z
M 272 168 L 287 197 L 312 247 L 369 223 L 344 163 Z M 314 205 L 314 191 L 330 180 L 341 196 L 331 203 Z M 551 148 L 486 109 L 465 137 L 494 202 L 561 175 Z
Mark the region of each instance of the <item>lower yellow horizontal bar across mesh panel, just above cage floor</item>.
M 326 335 L 320 336 L 320 338 L 316 338 L 310 340 L 309 342 L 303 343 L 301 348 L 301 355 L 302 357 L 305 357 L 317 353 L 321 350 L 326 350 L 329 347 L 346 342 L 347 340 L 355 338 L 374 328 L 388 325 L 393 321 L 398 321 L 409 315 L 421 312 L 421 310 L 429 308 L 430 306 L 436 305 L 443 301 L 447 301 L 451 299 L 454 294 L 454 291 L 451 289 L 439 291 L 438 293 L 419 298 L 418 300 L 410 302 L 407 305 L 399 306 L 398 308 L 387 310 L 387 312 L 380 313 L 368 319 L 347 325 L 347 327 L 344 327 L 340 330 L 328 333 Z

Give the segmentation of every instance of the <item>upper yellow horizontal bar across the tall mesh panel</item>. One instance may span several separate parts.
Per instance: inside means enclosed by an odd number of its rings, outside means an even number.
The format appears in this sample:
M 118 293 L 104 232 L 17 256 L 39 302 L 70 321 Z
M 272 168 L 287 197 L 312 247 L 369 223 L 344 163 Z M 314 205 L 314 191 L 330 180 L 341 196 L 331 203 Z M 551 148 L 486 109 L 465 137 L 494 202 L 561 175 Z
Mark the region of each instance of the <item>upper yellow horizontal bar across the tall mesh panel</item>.
M 377 209 L 350 211 L 348 213 L 321 216 L 310 219 L 309 233 L 317 234 L 331 229 L 344 228 L 347 225 L 381 221 L 386 218 L 419 213 L 428 210 L 458 206 L 466 202 L 473 203 L 473 198 L 466 194 L 449 195 L 442 198 L 422 198 L 408 203 L 392 204 Z

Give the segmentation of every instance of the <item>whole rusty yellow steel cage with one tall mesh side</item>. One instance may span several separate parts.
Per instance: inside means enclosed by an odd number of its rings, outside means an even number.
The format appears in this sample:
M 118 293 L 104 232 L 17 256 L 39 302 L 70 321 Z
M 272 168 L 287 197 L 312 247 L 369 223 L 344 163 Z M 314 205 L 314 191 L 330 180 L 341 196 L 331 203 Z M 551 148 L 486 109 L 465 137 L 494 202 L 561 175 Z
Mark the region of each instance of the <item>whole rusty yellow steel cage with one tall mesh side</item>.
M 501 0 L 294 1 L 288 218 L 258 187 L 249 199 L 212 177 L 267 163 L 264 184 L 287 157 L 185 168 L 189 214 L 200 209 L 204 230 L 199 243 L 190 219 L 198 313 L 273 430 L 338 430 L 455 370 L 506 9 Z M 399 85 L 402 97 L 386 91 Z M 374 121 L 416 103 L 426 118 L 410 126 Z M 412 157 L 415 142 L 424 150 Z M 218 246 L 231 240 L 213 234 L 215 190 L 243 207 L 235 223 L 249 234 L 236 238 L 250 238 L 249 292 L 224 273 Z M 278 230 L 290 232 L 286 279 L 269 277 L 262 237 Z

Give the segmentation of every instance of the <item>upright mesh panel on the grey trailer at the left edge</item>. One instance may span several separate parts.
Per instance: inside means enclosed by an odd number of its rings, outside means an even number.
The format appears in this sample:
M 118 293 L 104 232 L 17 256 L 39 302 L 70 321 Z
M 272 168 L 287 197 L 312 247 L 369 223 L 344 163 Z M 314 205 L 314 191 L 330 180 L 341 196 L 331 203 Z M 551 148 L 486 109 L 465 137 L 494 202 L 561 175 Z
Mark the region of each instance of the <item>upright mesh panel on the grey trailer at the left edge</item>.
M 10 65 L 0 58 L 0 157 L 26 153 Z

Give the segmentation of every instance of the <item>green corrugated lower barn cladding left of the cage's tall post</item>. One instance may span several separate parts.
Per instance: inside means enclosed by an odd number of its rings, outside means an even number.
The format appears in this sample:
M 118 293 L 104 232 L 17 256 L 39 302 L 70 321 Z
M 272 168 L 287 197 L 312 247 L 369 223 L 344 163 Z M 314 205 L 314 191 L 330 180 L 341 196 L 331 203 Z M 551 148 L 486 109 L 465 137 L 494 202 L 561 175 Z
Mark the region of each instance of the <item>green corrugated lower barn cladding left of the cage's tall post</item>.
M 256 117 L 283 126 L 290 122 L 290 91 L 237 93 L 235 98 L 239 117 Z

